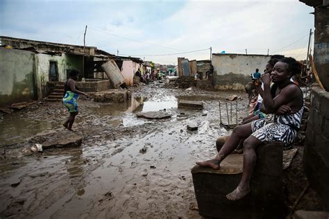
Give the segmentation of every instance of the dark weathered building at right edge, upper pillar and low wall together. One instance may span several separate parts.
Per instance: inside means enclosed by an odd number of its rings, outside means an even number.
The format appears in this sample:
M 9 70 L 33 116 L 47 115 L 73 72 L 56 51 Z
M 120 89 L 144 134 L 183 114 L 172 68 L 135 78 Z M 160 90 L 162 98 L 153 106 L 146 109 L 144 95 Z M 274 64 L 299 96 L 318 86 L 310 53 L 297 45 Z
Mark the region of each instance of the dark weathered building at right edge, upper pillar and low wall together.
M 311 187 L 329 211 L 329 1 L 300 0 L 314 7 L 314 65 L 323 87 L 312 90 L 304 150 L 304 166 Z

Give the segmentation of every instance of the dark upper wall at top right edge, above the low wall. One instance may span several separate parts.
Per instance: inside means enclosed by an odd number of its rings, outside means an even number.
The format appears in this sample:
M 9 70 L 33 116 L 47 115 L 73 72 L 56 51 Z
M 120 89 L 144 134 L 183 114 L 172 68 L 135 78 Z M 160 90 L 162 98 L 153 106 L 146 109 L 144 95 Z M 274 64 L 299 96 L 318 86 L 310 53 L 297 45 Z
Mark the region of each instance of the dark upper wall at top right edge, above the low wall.
M 326 91 L 329 91 L 329 8 L 314 8 L 314 64 Z

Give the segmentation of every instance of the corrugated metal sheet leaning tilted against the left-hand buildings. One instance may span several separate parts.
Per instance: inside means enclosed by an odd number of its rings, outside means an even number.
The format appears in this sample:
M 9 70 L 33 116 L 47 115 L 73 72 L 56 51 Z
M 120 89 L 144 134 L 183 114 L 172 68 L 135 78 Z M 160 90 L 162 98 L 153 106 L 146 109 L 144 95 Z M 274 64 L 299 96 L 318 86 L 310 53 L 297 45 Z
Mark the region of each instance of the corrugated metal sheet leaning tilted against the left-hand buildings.
M 122 76 L 122 73 L 119 70 L 119 67 L 117 67 L 115 60 L 109 60 L 108 62 L 102 64 L 101 67 L 115 88 L 124 83 L 124 76 Z

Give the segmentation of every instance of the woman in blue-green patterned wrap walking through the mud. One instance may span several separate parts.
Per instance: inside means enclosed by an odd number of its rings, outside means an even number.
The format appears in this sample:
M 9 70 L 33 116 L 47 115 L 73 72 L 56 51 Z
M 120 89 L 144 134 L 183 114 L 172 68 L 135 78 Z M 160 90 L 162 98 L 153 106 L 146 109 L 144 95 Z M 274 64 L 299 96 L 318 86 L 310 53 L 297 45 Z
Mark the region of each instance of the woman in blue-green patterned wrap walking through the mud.
M 78 70 L 71 69 L 69 71 L 69 79 L 65 82 L 64 85 L 64 95 L 62 98 L 62 103 L 69 109 L 69 118 L 65 123 L 63 123 L 63 126 L 67 128 L 68 130 L 72 130 L 72 125 L 74 123 L 74 119 L 76 118 L 76 115 L 78 114 L 78 103 L 76 100 L 79 97 L 79 94 L 82 94 L 86 97 L 88 97 L 87 94 L 83 93 L 82 91 L 78 90 L 78 87 L 76 87 L 76 80 L 78 80 Z

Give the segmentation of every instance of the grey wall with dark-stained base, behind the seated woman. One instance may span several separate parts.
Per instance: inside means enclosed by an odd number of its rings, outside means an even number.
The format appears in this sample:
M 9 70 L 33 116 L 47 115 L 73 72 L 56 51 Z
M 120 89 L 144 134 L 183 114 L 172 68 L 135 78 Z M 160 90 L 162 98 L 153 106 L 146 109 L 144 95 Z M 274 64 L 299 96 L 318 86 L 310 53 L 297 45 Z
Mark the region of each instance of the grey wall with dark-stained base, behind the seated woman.
M 251 81 L 251 73 L 255 69 L 262 73 L 269 60 L 269 55 L 213 53 L 214 88 L 243 90 L 244 85 Z

